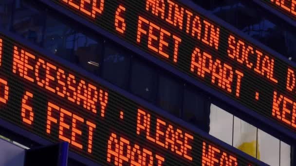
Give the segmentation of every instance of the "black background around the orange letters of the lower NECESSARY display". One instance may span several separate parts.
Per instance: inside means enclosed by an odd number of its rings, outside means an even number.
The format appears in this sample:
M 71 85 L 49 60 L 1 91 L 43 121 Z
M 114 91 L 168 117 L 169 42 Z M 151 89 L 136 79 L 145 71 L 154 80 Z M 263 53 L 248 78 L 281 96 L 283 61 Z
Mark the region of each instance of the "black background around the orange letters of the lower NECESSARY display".
M 207 144 L 212 144 L 216 148 L 227 152 L 228 154 L 237 157 L 239 166 L 248 166 L 251 164 L 242 156 L 232 153 L 227 149 L 223 149 L 220 145 L 215 145 L 210 140 L 207 140 L 200 136 L 198 133 L 193 133 L 187 131 L 185 128 L 171 122 L 165 117 L 159 116 L 155 112 L 152 112 L 146 108 L 141 107 L 139 104 L 125 98 L 124 96 L 108 89 L 107 87 L 101 86 L 99 83 L 93 83 L 90 79 L 78 74 L 77 72 L 71 70 L 70 68 L 59 64 L 44 55 L 37 53 L 34 50 L 26 48 L 25 46 L 20 45 L 17 42 L 14 42 L 12 39 L 9 39 L 3 35 L 0 35 L 0 38 L 3 39 L 2 47 L 2 58 L 0 66 L 0 78 L 8 82 L 9 86 L 9 98 L 6 104 L 0 103 L 0 118 L 7 120 L 31 133 L 35 133 L 38 136 L 45 138 L 51 142 L 59 142 L 58 139 L 58 125 L 52 124 L 51 134 L 46 133 L 46 120 L 47 120 L 47 105 L 48 102 L 55 103 L 61 108 L 64 108 L 71 113 L 74 113 L 78 116 L 83 117 L 85 120 L 89 120 L 92 123 L 96 124 L 96 129 L 93 133 L 93 148 L 92 154 L 87 152 L 87 140 L 88 140 L 88 129 L 86 125 L 78 125 L 78 129 L 81 129 L 82 135 L 77 135 L 77 142 L 82 143 L 84 149 L 75 148 L 73 145 L 70 145 L 71 151 L 74 151 L 77 154 L 80 154 L 86 158 L 91 159 L 92 161 L 102 164 L 104 166 L 112 165 L 107 162 L 107 142 L 111 133 L 116 133 L 117 136 L 122 136 L 130 141 L 130 144 L 138 144 L 141 148 L 149 149 L 155 154 L 165 157 L 166 162 L 164 166 L 199 166 L 201 165 L 202 160 L 202 145 L 203 141 Z M 13 64 L 13 47 L 17 46 L 19 49 L 23 49 L 33 54 L 36 59 L 41 58 L 45 62 L 49 62 L 55 65 L 58 68 L 61 68 L 65 71 L 66 76 L 70 73 L 73 74 L 78 82 L 80 79 L 83 79 L 87 83 L 95 85 L 98 89 L 102 89 L 109 93 L 109 100 L 105 112 L 105 117 L 100 116 L 100 110 L 97 110 L 97 114 L 94 114 L 82 106 L 78 106 L 65 98 L 61 98 L 56 94 L 46 90 L 37 85 L 37 83 L 31 83 L 28 80 L 12 72 Z M 29 61 L 30 65 L 33 65 L 36 61 Z M 30 73 L 29 73 L 30 75 Z M 52 84 L 56 86 L 56 82 Z M 1 86 L 1 96 L 3 95 L 3 86 Z M 34 121 L 32 125 L 24 123 L 21 119 L 21 100 L 25 94 L 25 91 L 33 93 L 33 99 L 28 100 L 28 105 L 33 107 L 34 112 Z M 97 105 L 97 108 L 100 108 Z M 169 150 L 159 147 L 156 144 L 149 142 L 144 134 L 136 134 L 136 116 L 137 109 L 143 109 L 151 115 L 151 133 L 155 132 L 155 119 L 160 118 L 166 123 L 170 123 L 174 126 L 174 129 L 178 128 L 183 132 L 190 133 L 194 136 L 194 141 L 192 141 L 192 157 L 193 161 L 189 162 L 185 158 L 176 155 Z M 120 111 L 124 112 L 124 119 L 120 119 Z M 55 117 L 58 117 L 57 111 L 52 111 Z M 71 119 L 65 118 L 67 124 L 71 124 Z M 67 131 L 65 129 L 65 131 Z M 64 133 L 67 135 L 67 132 Z M 80 139 L 79 139 L 80 138 Z M 216 154 L 216 157 L 219 155 Z M 155 165 L 155 163 L 154 163 Z M 253 164 L 252 164 L 253 166 Z

